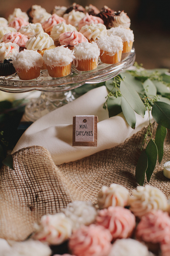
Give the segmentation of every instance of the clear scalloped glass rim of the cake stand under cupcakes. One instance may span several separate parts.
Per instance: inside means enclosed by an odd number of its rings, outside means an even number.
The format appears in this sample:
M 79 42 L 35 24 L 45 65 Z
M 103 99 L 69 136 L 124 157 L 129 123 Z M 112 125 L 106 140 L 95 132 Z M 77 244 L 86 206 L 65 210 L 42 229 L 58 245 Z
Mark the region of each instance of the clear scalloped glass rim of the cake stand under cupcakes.
M 79 87 L 85 83 L 99 83 L 115 77 L 123 69 L 133 65 L 135 61 L 135 49 L 122 54 L 121 61 L 117 64 L 105 64 L 99 61 L 98 67 L 92 71 L 79 72 L 72 67 L 72 73 L 66 77 L 53 78 L 47 70 L 41 71 L 41 75 L 33 80 L 20 80 L 15 73 L 8 77 L 0 77 L 0 90 L 6 92 L 26 91 L 67 91 Z

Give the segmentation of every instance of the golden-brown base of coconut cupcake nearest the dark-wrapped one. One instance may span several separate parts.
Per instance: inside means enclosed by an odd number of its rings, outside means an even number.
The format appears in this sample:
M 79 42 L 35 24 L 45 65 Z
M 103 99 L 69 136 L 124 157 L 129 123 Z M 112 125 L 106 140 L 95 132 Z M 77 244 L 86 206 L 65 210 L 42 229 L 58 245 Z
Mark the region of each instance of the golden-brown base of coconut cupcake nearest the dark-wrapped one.
M 17 74 L 21 80 L 31 80 L 39 77 L 40 67 L 31 67 L 29 70 L 24 68 L 17 70 Z

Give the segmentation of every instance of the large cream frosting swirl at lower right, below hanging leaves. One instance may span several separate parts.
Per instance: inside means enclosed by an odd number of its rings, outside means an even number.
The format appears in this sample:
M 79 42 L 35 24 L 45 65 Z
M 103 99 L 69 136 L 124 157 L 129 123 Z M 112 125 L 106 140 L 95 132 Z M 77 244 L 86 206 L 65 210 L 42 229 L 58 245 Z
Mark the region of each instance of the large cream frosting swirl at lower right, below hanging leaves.
M 164 193 L 149 184 L 137 186 L 132 190 L 132 196 L 129 197 L 130 210 L 135 216 L 141 218 L 151 209 L 166 211 L 168 207 L 167 198 Z

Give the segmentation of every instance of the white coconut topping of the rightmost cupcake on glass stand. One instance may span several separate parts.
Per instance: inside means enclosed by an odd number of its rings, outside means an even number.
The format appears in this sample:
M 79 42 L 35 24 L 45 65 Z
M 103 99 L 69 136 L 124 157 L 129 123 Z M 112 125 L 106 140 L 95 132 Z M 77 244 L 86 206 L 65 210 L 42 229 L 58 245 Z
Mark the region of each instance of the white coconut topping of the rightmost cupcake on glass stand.
M 107 35 L 117 35 L 120 36 L 123 42 L 134 42 L 134 34 L 131 29 L 126 29 L 121 26 L 113 27 L 107 30 Z

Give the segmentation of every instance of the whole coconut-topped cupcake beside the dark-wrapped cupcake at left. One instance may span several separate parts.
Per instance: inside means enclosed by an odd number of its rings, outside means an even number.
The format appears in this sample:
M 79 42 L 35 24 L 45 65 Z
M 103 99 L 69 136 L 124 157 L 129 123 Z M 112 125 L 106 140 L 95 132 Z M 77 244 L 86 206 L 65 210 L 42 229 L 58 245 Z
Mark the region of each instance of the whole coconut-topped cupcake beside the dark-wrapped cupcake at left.
M 43 58 L 37 51 L 24 49 L 13 56 L 12 63 L 21 80 L 31 80 L 39 77 Z

